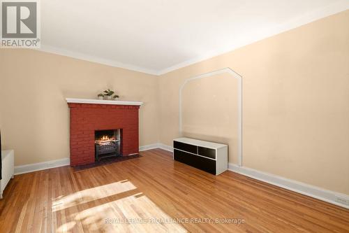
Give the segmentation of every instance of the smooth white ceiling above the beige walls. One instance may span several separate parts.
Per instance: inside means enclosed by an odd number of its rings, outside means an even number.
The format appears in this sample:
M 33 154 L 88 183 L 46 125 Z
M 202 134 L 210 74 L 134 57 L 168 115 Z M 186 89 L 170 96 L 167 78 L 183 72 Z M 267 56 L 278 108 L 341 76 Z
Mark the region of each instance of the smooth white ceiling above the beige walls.
M 40 50 L 161 74 L 349 8 L 349 0 L 43 0 Z

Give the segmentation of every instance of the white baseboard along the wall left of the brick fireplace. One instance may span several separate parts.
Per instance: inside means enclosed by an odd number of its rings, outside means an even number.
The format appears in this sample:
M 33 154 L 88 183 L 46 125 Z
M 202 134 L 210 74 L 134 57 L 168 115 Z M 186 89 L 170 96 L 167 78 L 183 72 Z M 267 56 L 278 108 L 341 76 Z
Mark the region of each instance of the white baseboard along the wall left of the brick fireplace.
M 22 166 L 15 166 L 15 175 L 28 173 L 31 171 L 40 171 L 55 167 L 63 167 L 70 164 L 69 158 L 64 158 L 61 160 L 50 160 L 47 162 L 38 162 L 36 164 L 26 164 Z

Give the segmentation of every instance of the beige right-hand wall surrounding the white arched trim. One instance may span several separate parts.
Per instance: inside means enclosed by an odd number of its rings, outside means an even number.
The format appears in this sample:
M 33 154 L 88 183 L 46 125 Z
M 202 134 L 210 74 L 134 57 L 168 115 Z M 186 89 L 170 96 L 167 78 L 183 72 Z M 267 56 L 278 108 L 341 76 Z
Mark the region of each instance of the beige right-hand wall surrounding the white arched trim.
M 179 136 L 184 80 L 230 67 L 243 78 L 244 167 L 349 194 L 348 22 L 349 10 L 161 76 L 161 143 L 170 146 Z M 235 94 L 228 83 L 205 91 Z M 205 130 L 200 125 L 191 133 Z M 205 138 L 234 141 L 234 134 Z M 232 156 L 230 162 L 237 163 Z

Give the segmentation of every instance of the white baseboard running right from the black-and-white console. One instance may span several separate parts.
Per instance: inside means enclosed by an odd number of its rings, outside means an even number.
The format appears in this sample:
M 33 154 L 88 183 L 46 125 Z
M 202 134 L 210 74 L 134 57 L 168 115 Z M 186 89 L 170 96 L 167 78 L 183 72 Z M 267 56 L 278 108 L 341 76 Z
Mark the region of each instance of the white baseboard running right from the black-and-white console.
M 228 170 L 234 171 L 238 174 L 242 174 L 244 176 L 248 176 L 251 178 L 255 178 L 258 181 L 263 181 L 265 183 L 270 183 L 272 185 L 279 186 L 281 188 L 285 188 L 287 190 L 291 190 L 294 192 L 301 193 L 302 195 L 306 195 L 309 197 L 313 197 L 316 199 L 320 199 L 324 202 L 329 202 L 331 204 L 335 204 L 337 206 L 344 207 L 349 209 L 349 204 L 341 204 L 336 202 L 337 198 L 347 199 L 349 200 L 349 195 L 345 195 L 340 192 L 334 192 L 330 190 L 325 190 L 323 188 L 319 188 L 317 186 L 308 185 L 306 183 L 302 183 L 299 181 L 293 181 L 288 178 L 283 178 L 281 176 L 276 176 L 273 174 L 268 174 L 263 171 L 258 171 L 255 169 L 250 169 L 247 167 L 239 167 L 237 164 L 228 164 Z

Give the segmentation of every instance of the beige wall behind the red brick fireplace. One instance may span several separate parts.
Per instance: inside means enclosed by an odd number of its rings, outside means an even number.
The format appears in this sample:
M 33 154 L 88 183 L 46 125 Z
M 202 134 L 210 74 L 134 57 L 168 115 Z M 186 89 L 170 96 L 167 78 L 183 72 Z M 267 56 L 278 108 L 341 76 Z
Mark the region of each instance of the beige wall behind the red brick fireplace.
M 0 50 L 3 143 L 15 165 L 69 157 L 66 97 L 96 98 L 111 87 L 143 101 L 140 146 L 158 141 L 158 77 L 36 50 Z

